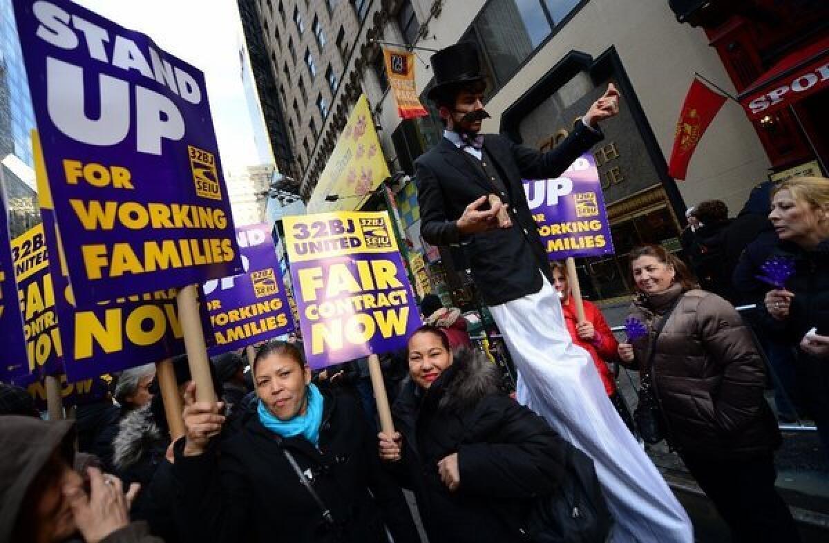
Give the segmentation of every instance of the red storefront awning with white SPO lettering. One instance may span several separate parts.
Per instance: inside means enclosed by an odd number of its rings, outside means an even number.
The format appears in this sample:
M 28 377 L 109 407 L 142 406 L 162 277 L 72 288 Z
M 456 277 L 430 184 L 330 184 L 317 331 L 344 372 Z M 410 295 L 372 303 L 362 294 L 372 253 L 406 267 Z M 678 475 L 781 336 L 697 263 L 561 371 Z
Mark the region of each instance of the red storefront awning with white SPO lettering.
M 821 90 L 829 89 L 829 37 L 795 51 L 773 65 L 739 95 L 749 119 L 762 119 Z

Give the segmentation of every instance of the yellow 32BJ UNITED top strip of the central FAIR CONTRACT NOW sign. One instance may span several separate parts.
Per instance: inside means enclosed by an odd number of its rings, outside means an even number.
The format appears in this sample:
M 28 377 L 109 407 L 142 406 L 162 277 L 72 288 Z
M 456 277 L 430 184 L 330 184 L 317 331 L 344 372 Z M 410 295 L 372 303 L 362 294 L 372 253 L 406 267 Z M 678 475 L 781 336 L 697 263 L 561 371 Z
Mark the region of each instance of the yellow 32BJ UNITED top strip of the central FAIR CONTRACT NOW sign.
M 283 218 L 288 260 L 305 262 L 398 250 L 387 211 L 339 211 Z

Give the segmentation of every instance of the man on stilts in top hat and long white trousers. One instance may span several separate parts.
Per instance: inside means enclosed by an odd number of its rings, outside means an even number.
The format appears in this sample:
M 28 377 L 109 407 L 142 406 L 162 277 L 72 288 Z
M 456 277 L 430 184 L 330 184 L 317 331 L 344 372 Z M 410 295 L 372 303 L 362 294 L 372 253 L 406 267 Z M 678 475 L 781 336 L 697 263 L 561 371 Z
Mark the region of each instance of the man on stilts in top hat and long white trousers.
M 693 541 L 685 510 L 619 419 L 587 351 L 570 339 L 521 182 L 559 177 L 599 142 L 597 123 L 618 113 L 618 92 L 610 85 L 564 142 L 540 153 L 479 134 L 489 115 L 473 44 L 449 46 L 431 65 L 428 96 L 446 130 L 415 162 L 424 240 L 463 247 L 519 373 L 518 400 L 594 459 L 614 543 Z

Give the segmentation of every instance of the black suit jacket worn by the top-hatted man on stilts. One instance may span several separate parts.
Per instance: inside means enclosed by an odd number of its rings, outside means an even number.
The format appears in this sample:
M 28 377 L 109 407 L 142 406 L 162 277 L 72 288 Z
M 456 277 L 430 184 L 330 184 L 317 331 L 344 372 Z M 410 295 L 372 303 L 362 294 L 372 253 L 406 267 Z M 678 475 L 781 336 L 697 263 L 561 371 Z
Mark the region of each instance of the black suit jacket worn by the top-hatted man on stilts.
M 483 148 L 505 185 L 499 186 L 499 182 L 486 176 L 476 158 L 464 156 L 465 151 L 443 138 L 414 162 L 424 240 L 432 245 L 463 246 L 475 283 L 488 305 L 538 292 L 542 284 L 539 269 L 550 284 L 553 280 L 521 180 L 559 177 L 601 139 L 601 133 L 579 122 L 560 145 L 540 153 L 502 135 L 486 134 Z M 507 203 L 511 228 L 461 235 L 457 221 L 463 210 L 480 196 L 491 193 Z

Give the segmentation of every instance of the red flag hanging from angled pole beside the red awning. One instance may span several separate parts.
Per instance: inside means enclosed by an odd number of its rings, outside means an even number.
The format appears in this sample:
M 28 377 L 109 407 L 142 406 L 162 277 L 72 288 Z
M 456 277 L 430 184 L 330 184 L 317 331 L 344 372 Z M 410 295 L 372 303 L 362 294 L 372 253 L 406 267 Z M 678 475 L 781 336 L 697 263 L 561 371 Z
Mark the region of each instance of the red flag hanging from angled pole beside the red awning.
M 688 162 L 691 162 L 696 144 L 700 143 L 702 134 L 723 104 L 725 96 L 710 90 L 701 80 L 694 78 L 676 123 L 674 147 L 671 160 L 668 161 L 669 176 L 675 179 L 686 178 Z

